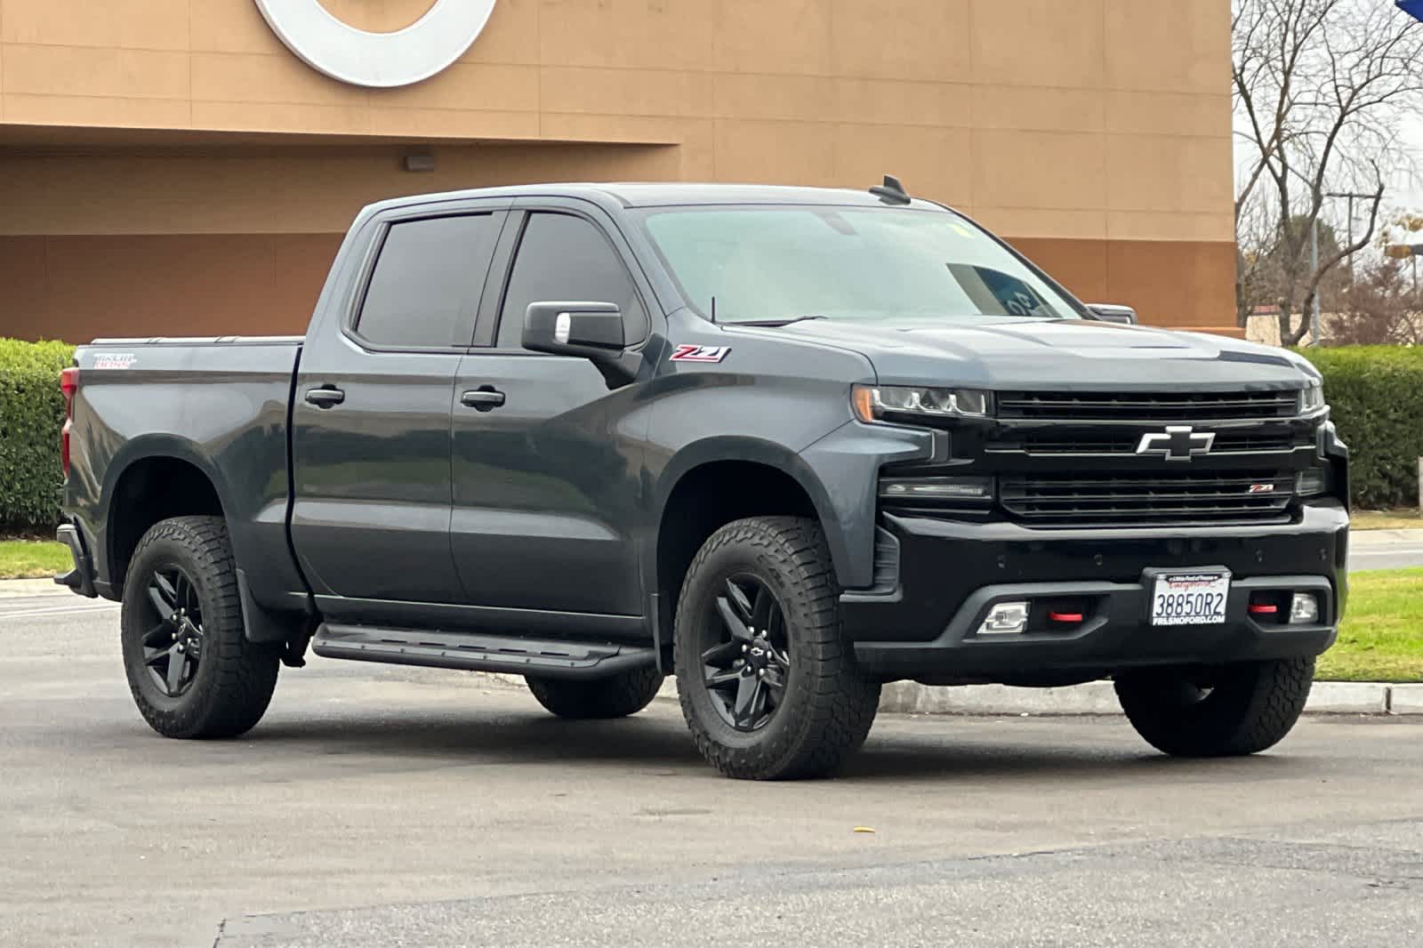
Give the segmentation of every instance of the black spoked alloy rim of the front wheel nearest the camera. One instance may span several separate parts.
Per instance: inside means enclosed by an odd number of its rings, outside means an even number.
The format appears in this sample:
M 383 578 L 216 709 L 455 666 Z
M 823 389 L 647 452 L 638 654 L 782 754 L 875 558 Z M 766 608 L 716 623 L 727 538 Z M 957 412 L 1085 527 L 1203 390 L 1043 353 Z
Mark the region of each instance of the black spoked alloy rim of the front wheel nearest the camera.
M 790 670 L 776 594 L 757 576 L 733 575 L 703 623 L 702 680 L 713 707 L 739 732 L 760 730 L 784 705 Z

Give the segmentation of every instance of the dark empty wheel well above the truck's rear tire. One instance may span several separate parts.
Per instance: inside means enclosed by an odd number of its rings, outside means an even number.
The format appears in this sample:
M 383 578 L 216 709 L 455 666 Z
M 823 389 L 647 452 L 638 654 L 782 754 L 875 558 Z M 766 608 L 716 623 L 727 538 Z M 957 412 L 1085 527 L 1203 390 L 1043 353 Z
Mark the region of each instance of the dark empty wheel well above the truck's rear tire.
M 222 517 L 222 501 L 208 475 L 176 457 L 135 461 L 120 475 L 108 508 L 110 582 L 115 591 L 124 588 L 128 561 L 154 524 L 169 517 Z

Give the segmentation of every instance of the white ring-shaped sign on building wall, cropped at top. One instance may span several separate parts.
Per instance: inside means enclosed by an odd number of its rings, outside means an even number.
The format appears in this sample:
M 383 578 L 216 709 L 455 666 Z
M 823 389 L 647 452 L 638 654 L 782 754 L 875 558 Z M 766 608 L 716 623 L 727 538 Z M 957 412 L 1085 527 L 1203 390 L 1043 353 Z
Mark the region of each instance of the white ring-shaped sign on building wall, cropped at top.
M 410 85 L 448 68 L 484 31 L 495 0 L 435 0 L 396 33 L 367 33 L 320 0 L 256 0 L 272 31 L 314 70 L 351 85 Z

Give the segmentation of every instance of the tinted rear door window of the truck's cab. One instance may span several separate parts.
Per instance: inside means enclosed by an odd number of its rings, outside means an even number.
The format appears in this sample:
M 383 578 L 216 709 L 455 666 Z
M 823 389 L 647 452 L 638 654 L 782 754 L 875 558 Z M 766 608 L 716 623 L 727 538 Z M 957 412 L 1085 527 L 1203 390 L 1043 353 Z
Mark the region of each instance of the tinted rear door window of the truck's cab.
M 468 346 L 498 236 L 488 214 L 393 225 L 356 332 L 384 346 Z

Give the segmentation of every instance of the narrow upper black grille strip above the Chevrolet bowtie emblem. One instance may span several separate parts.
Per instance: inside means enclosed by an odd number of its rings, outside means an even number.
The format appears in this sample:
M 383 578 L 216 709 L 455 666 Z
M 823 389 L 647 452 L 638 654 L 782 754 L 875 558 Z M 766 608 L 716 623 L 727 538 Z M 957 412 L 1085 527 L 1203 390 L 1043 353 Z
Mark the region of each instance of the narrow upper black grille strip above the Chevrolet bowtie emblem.
M 1192 421 L 1278 420 L 1299 414 L 1296 391 L 1005 391 L 998 417 L 1030 421 Z

